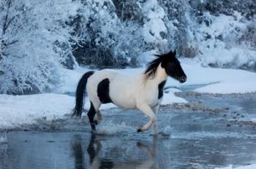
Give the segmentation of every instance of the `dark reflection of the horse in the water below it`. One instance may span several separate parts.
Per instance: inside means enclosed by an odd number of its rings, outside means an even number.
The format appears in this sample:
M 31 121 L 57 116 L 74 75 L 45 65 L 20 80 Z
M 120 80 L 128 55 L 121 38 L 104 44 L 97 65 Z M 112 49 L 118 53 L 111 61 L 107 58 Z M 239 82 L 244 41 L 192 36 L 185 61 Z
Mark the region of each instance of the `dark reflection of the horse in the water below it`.
M 138 168 L 138 169 L 147 169 L 147 168 L 154 168 L 157 167 L 157 160 L 156 160 L 156 149 L 157 149 L 157 138 L 153 139 L 152 147 L 146 146 L 140 142 L 137 142 L 138 149 L 141 149 L 143 152 L 148 154 L 148 159 L 146 160 L 127 160 L 125 162 L 114 161 L 108 157 L 99 157 L 99 154 L 102 150 L 101 141 L 97 140 L 97 136 L 92 134 L 89 145 L 87 147 L 87 154 L 89 155 L 89 164 L 88 160 L 86 160 L 86 154 L 83 151 L 83 144 L 80 135 L 75 138 L 75 141 L 72 143 L 72 152 L 75 157 L 75 168 L 76 169 L 98 169 L 98 168 Z M 158 168 L 158 167 L 157 167 Z

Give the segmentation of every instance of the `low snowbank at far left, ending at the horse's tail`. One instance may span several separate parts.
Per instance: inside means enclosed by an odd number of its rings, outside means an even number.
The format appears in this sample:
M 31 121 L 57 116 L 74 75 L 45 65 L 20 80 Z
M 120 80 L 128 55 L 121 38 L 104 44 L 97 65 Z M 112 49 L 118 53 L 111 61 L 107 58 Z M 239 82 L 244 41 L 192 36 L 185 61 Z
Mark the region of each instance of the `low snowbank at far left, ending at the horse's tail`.
M 74 98 L 68 95 L 0 95 L 0 128 L 31 124 L 42 117 L 63 117 L 71 112 L 73 106 Z

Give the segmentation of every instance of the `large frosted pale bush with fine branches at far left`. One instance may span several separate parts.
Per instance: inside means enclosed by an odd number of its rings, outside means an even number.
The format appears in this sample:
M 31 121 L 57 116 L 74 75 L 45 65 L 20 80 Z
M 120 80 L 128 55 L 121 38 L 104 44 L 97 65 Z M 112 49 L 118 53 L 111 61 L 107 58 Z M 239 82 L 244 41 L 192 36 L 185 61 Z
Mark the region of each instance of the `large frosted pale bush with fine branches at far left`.
M 78 2 L 4 0 L 0 3 L 0 93 L 53 89 L 59 83 L 60 63 L 72 50 L 72 28 L 65 21 L 75 15 Z M 77 42 L 72 39 L 72 43 Z

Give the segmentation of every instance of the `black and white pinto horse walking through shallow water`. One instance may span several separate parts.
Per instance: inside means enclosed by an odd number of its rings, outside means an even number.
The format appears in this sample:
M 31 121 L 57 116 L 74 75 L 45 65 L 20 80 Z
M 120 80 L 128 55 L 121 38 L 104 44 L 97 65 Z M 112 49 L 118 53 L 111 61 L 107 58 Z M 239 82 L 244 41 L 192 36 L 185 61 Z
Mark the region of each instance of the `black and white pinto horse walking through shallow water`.
M 170 76 L 178 82 L 184 83 L 187 75 L 176 58 L 176 50 L 162 55 L 155 55 L 143 73 L 135 76 L 121 74 L 111 69 L 88 71 L 78 82 L 75 108 L 72 117 L 81 117 L 86 92 L 91 102 L 87 113 L 91 130 L 102 121 L 99 107 L 104 103 L 113 103 L 123 109 L 139 109 L 150 119 L 138 127 L 137 132 L 153 128 L 153 135 L 157 135 L 157 113 L 162 102 L 167 77 Z M 94 116 L 97 114 L 97 119 Z

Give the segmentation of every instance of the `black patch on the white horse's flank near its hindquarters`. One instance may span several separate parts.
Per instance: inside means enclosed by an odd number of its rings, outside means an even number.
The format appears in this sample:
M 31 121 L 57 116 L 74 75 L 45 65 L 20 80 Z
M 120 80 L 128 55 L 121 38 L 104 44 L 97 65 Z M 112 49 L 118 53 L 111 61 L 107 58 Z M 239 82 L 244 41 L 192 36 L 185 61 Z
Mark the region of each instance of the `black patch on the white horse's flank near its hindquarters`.
M 110 81 L 108 78 L 103 79 L 98 84 L 97 93 L 98 93 L 99 101 L 102 103 L 112 103 L 111 98 L 109 96 L 109 84 L 110 84 Z

